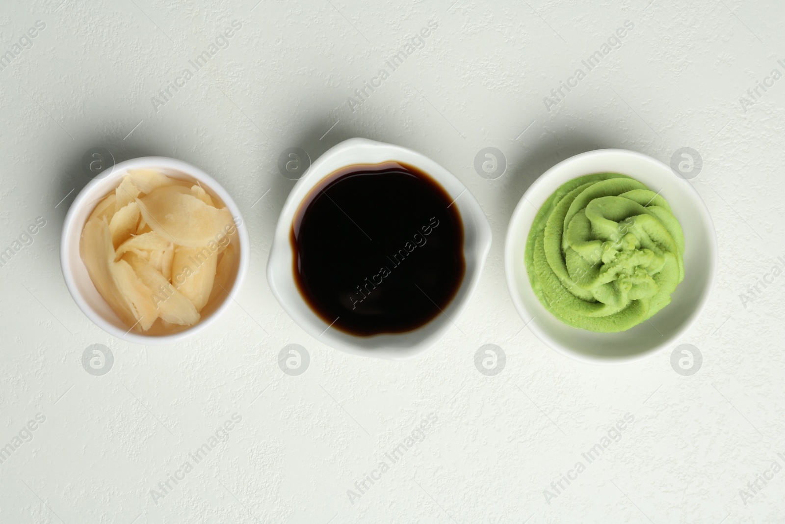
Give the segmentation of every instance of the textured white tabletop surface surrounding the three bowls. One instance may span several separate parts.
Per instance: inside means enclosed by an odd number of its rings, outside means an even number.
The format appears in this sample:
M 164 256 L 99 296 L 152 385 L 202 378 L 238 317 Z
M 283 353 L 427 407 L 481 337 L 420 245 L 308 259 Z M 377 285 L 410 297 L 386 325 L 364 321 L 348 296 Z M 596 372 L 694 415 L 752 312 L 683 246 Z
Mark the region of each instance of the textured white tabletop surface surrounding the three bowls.
M 0 248 L 46 219 L 0 268 L 0 446 L 46 416 L 0 464 L 0 522 L 785 522 L 785 471 L 747 504 L 739 495 L 773 460 L 785 467 L 785 277 L 746 307 L 739 297 L 785 257 L 785 79 L 746 112 L 739 101 L 773 68 L 785 73 L 780 2 L 256 2 L 0 6 L 2 52 L 46 24 L 0 71 Z M 242 28 L 228 48 L 156 112 L 151 97 L 232 20 Z M 425 46 L 350 111 L 352 91 L 429 20 L 439 27 Z M 623 46 L 548 112 L 542 98 L 625 20 L 634 28 Z M 442 163 L 493 229 L 458 321 L 466 335 L 454 329 L 417 361 L 331 350 L 287 317 L 265 279 L 293 185 L 280 152 L 315 159 L 356 136 Z M 68 294 L 60 226 L 89 179 L 82 154 L 99 145 L 118 161 L 193 163 L 242 208 L 250 274 L 203 336 L 122 343 Z M 473 168 L 487 146 L 509 162 L 495 181 Z M 720 244 L 707 310 L 679 341 L 703 353 L 699 372 L 674 372 L 672 348 L 583 365 L 522 330 L 502 265 L 521 192 L 593 148 L 668 163 L 685 146 L 703 157 L 692 184 Z M 93 343 L 114 354 L 104 376 L 82 368 Z M 309 351 L 300 376 L 277 365 L 288 343 Z M 506 351 L 496 376 L 473 365 L 485 343 Z M 228 440 L 156 504 L 150 490 L 233 412 L 243 418 Z M 352 504 L 347 490 L 431 412 L 425 440 Z M 634 423 L 621 440 L 547 503 L 543 490 L 626 413 Z

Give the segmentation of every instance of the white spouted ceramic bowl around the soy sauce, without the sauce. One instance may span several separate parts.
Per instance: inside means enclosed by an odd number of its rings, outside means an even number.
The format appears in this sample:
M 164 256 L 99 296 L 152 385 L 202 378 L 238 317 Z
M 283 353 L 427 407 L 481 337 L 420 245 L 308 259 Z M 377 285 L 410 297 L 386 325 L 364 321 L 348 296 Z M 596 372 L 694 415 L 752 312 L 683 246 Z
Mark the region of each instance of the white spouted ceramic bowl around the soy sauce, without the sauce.
M 329 328 L 329 324 L 319 318 L 302 298 L 294 281 L 294 252 L 290 245 L 290 231 L 294 215 L 300 203 L 311 189 L 335 170 L 357 163 L 374 164 L 398 160 L 418 167 L 437 181 L 455 200 L 464 228 L 463 256 L 466 260 L 466 274 L 461 288 L 444 314 L 435 317 L 428 324 L 411 332 L 355 336 Z M 406 360 L 422 354 L 436 343 L 453 324 L 458 321 L 469 302 L 485 258 L 491 248 L 491 226 L 474 196 L 454 174 L 418 152 L 398 145 L 383 144 L 364 138 L 351 138 L 330 148 L 316 160 L 289 193 L 283 211 L 276 225 L 276 235 L 272 240 L 270 259 L 267 264 L 267 280 L 283 309 L 297 324 L 310 335 L 328 346 L 349 354 L 378 357 L 389 360 Z

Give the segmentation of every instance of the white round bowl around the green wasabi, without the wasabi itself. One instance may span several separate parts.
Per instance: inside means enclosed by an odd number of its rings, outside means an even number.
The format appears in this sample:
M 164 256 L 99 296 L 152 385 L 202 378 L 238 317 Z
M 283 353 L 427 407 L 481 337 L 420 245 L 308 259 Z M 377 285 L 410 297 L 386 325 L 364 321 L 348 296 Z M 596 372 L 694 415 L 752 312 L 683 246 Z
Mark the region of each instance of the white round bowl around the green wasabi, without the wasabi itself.
M 532 291 L 524 262 L 529 229 L 542 203 L 566 181 L 605 172 L 629 175 L 649 189 L 660 191 L 685 233 L 685 279 L 671 295 L 673 302 L 648 322 L 619 333 L 573 328 L 553 317 Z M 714 225 L 696 190 L 659 160 L 623 149 L 585 152 L 551 167 L 520 200 L 507 229 L 505 270 L 518 313 L 542 342 L 561 354 L 592 364 L 636 361 L 674 343 L 706 305 L 716 269 Z

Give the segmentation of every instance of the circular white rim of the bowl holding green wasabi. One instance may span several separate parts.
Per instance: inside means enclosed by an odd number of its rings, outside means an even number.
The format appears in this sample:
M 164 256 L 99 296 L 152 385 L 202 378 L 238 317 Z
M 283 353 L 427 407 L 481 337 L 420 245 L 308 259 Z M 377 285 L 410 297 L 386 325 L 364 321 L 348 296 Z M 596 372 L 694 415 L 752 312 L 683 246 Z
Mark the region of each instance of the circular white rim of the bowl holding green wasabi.
M 522 215 L 524 214 L 524 210 L 527 206 L 533 205 L 529 198 L 535 194 L 539 194 L 541 192 L 541 187 L 546 185 L 546 181 L 553 176 L 553 174 L 559 173 L 561 170 L 564 170 L 565 167 L 571 166 L 575 163 L 580 163 L 585 161 L 586 159 L 593 159 L 595 157 L 601 156 L 616 156 L 616 157 L 632 157 L 638 160 L 644 160 L 649 163 L 653 163 L 655 166 L 661 168 L 664 171 L 669 173 L 670 177 L 677 179 L 677 181 L 683 182 L 682 189 L 683 191 L 691 192 L 692 193 L 692 201 L 696 203 L 696 211 L 702 215 L 703 219 L 706 221 L 708 225 L 708 229 L 710 229 L 710 234 L 707 235 L 708 240 L 708 279 L 707 284 L 703 288 L 700 294 L 699 302 L 693 310 L 688 313 L 687 321 L 681 325 L 681 328 L 677 329 L 674 333 L 667 336 L 665 340 L 661 341 L 653 345 L 651 348 L 647 350 L 643 350 L 637 354 L 631 355 L 624 355 L 621 357 L 597 357 L 590 354 L 581 353 L 572 349 L 570 346 L 566 346 L 557 340 L 553 339 L 548 332 L 542 329 L 537 320 L 535 313 L 529 310 L 528 306 L 524 302 L 524 300 L 520 296 L 520 292 L 518 291 L 518 282 L 515 276 L 515 260 L 513 259 L 513 242 L 515 242 L 515 238 L 513 236 L 520 230 L 524 225 L 520 224 L 523 220 Z M 664 172 L 663 171 L 663 172 Z M 596 173 L 597 171 L 587 172 L 586 174 Z M 580 175 L 576 175 L 573 178 L 577 178 Z M 634 178 L 633 174 L 630 174 Z M 552 193 L 552 192 L 551 192 Z M 546 196 L 547 198 L 547 196 Z M 541 204 L 542 205 L 542 204 Z M 539 212 L 539 208 L 537 209 Z M 535 213 L 536 215 L 536 213 Z M 533 218 L 532 218 L 533 221 Z M 526 225 L 526 236 L 528 238 L 528 232 L 531 229 L 531 223 L 525 224 Z M 531 329 L 531 332 L 537 336 L 546 346 L 549 346 L 552 350 L 555 350 L 557 353 L 564 355 L 565 357 L 569 357 L 576 361 L 581 361 L 585 364 L 594 364 L 594 365 L 621 365 L 621 364 L 630 364 L 633 362 L 644 360 L 645 358 L 651 357 L 653 354 L 663 350 L 664 347 L 670 346 L 671 343 L 674 342 L 676 339 L 680 339 L 689 329 L 692 328 L 693 325 L 696 324 L 698 321 L 698 317 L 700 313 L 706 308 L 706 305 L 709 300 L 709 295 L 711 289 L 714 288 L 714 281 L 717 277 L 717 231 L 714 228 L 714 222 L 711 219 L 711 214 L 706 206 L 706 203 L 703 202 L 703 199 L 692 186 L 684 178 L 680 178 L 674 171 L 667 166 L 665 163 L 659 161 L 658 159 L 652 158 L 651 156 L 644 155 L 641 152 L 637 151 L 630 151 L 629 149 L 620 149 L 620 148 L 607 148 L 607 149 L 594 149 L 593 151 L 586 151 L 579 153 L 578 155 L 571 156 L 568 159 L 564 159 L 559 163 L 555 164 L 553 167 L 550 167 L 546 170 L 543 174 L 541 174 L 526 190 L 524 196 L 522 196 L 515 207 L 515 211 L 513 211 L 512 216 L 509 218 L 509 224 L 507 227 L 507 233 L 505 237 L 505 248 L 504 248 L 504 268 L 506 273 L 506 280 L 507 280 L 507 288 L 509 290 L 510 298 L 513 300 L 513 304 L 520 315 L 521 319 L 525 322 L 525 326 Z M 527 270 L 528 272 L 528 270 Z M 526 286 L 529 286 L 531 289 L 531 281 L 528 278 L 525 278 Z M 549 314 L 550 311 L 548 312 Z M 568 326 L 568 324 L 564 324 Z M 571 328 L 571 326 L 568 326 Z

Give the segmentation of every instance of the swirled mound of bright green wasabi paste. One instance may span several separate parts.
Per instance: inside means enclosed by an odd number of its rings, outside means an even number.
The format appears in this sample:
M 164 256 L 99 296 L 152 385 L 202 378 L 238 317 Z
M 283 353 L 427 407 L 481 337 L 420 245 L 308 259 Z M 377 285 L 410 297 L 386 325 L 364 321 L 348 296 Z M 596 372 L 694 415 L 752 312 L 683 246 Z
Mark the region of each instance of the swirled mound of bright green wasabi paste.
M 666 200 L 624 174 L 561 185 L 531 225 L 526 269 L 554 317 L 621 332 L 670 303 L 684 280 L 684 233 Z

